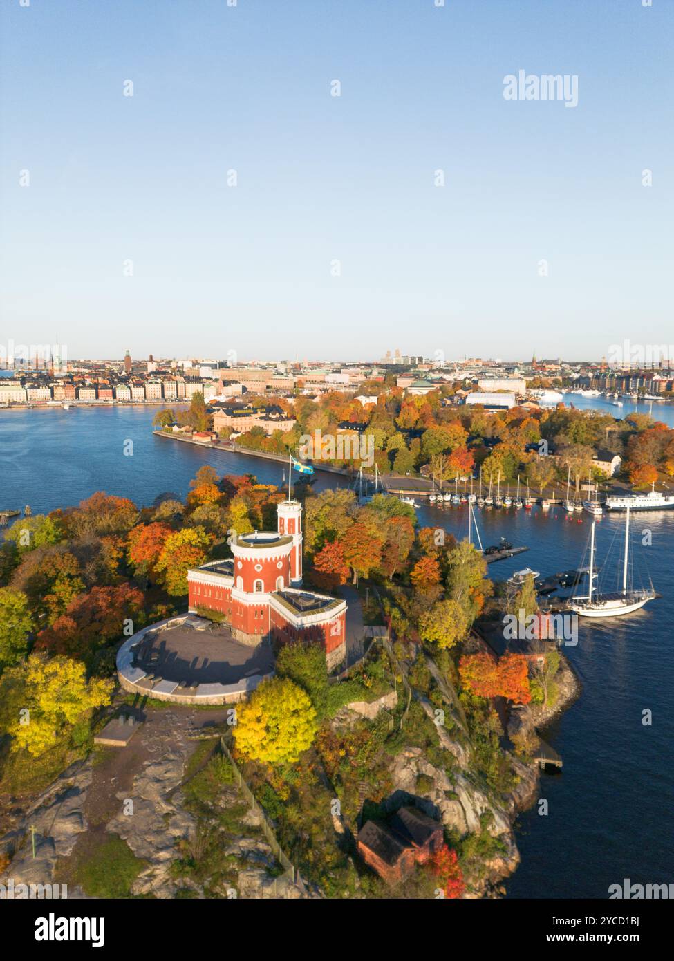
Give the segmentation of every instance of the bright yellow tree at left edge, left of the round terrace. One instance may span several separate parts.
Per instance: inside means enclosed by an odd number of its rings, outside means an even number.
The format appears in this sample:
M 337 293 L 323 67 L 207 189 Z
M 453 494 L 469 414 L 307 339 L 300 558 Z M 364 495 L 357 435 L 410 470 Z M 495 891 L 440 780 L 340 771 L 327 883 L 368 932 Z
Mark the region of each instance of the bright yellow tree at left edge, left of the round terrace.
M 12 751 L 38 757 L 53 748 L 88 711 L 110 703 L 113 686 L 112 680 L 87 681 L 85 665 L 69 657 L 31 654 L 2 678 L 0 693 L 11 692 L 6 707 L 20 706 L 8 718 Z

